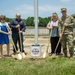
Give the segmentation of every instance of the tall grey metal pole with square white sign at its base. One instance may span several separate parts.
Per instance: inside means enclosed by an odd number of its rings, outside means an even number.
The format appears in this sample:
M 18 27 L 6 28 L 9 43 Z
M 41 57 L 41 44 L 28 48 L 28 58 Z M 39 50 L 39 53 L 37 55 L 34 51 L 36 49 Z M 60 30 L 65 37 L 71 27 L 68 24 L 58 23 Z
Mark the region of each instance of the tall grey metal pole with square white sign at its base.
M 34 0 L 35 45 L 31 45 L 31 56 L 40 56 L 41 46 L 38 44 L 38 0 Z

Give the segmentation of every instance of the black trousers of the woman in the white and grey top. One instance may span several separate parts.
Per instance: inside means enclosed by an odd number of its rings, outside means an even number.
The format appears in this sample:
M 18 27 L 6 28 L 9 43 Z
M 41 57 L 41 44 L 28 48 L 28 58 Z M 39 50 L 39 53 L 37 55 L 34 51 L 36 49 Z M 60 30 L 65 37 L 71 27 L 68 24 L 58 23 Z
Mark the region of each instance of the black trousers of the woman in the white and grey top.
M 59 37 L 51 37 L 51 53 L 54 53 L 58 40 Z M 60 54 L 60 53 L 61 53 L 61 43 L 59 43 L 59 46 L 56 50 L 56 54 Z

